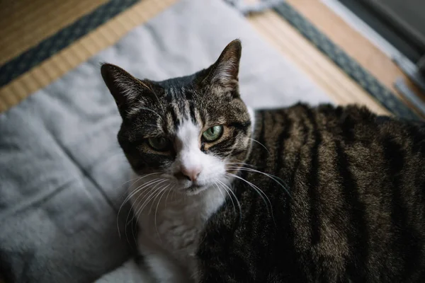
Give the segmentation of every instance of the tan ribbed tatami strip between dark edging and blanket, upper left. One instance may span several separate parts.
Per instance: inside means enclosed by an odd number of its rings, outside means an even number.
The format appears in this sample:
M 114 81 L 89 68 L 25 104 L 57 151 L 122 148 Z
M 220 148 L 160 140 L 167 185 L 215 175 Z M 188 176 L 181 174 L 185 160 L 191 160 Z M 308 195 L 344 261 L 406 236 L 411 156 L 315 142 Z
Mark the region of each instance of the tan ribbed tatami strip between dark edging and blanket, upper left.
M 31 93 L 44 88 L 94 54 L 115 44 L 132 28 L 142 25 L 176 1 L 140 1 L 93 32 L 81 37 L 69 47 L 46 59 L 26 74 L 11 81 L 0 88 L 0 112 L 18 104 Z

